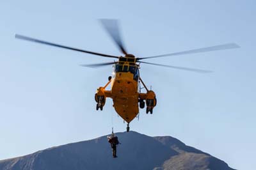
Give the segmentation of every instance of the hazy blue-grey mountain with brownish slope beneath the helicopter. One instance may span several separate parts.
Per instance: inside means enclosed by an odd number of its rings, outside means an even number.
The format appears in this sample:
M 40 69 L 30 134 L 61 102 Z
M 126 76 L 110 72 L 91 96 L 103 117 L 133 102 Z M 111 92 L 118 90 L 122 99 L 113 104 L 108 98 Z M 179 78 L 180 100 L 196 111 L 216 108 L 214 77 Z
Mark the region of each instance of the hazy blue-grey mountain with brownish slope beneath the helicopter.
M 208 153 L 186 146 L 170 136 L 150 137 L 138 132 L 116 133 L 118 158 L 113 158 L 106 135 L 0 160 L 0 169 L 12 170 L 234 170 Z

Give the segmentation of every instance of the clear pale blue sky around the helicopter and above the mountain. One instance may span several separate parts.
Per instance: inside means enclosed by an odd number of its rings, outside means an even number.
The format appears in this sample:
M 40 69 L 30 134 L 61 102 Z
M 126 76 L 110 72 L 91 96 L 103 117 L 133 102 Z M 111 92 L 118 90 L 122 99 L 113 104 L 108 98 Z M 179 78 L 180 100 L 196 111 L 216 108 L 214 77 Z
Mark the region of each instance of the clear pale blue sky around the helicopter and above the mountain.
M 213 70 L 200 74 L 142 65 L 156 92 L 154 114 L 140 113 L 131 130 L 171 135 L 253 169 L 256 151 L 255 1 L 1 1 L 0 159 L 125 130 L 108 100 L 95 111 L 94 93 L 112 67 L 90 54 L 15 40 L 15 33 L 120 55 L 97 19 L 120 19 L 128 52 L 154 56 L 222 43 L 241 49 L 151 59 Z M 149 60 L 148 60 L 149 61 Z M 112 121 L 113 120 L 113 121 Z M 113 123 L 112 123 L 113 122 Z

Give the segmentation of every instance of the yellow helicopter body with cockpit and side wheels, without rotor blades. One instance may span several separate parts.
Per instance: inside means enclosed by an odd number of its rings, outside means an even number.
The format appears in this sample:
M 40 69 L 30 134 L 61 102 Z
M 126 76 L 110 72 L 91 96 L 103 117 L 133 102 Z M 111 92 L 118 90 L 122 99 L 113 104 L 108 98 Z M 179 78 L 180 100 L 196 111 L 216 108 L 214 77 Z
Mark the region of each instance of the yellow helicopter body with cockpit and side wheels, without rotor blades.
M 128 62 L 130 61 L 130 62 Z M 139 104 L 141 109 L 147 104 L 147 113 L 156 106 L 156 95 L 154 91 L 148 90 L 147 93 L 140 93 L 138 84 L 140 79 L 140 66 L 134 62 L 134 58 L 121 58 L 113 66 L 113 76 L 104 87 L 97 89 L 95 100 L 97 109 L 104 106 L 106 98 L 113 99 L 113 107 L 115 111 L 130 123 L 139 113 Z M 111 83 L 111 89 L 106 90 L 108 84 Z M 143 84 L 145 86 L 145 84 Z M 144 102 L 145 100 L 145 102 Z

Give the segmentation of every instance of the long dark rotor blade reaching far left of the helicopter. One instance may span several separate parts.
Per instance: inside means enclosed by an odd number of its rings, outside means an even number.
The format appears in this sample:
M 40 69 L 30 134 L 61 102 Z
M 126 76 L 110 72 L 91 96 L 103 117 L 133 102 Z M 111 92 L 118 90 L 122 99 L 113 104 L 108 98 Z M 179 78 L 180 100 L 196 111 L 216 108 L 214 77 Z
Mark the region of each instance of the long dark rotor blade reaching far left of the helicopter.
M 19 38 L 21 40 L 27 40 L 29 42 L 36 42 L 36 43 L 42 43 L 42 44 L 45 44 L 45 45 L 51 45 L 51 46 L 54 46 L 54 47 L 60 47 L 60 48 L 63 48 L 63 49 L 76 50 L 76 51 L 79 51 L 79 52 L 85 52 L 85 53 L 94 54 L 94 55 L 97 55 L 97 56 L 103 56 L 103 57 L 106 57 L 106 58 L 118 58 L 118 56 L 111 56 L 111 55 L 108 55 L 108 54 L 100 54 L 98 52 L 76 49 L 76 48 L 73 48 L 73 47 L 67 47 L 67 46 L 64 46 L 64 45 L 51 43 L 51 42 L 45 42 L 43 40 L 38 40 L 38 39 L 35 39 L 35 38 L 30 38 L 28 36 L 23 36 L 23 35 L 15 35 L 15 38 Z

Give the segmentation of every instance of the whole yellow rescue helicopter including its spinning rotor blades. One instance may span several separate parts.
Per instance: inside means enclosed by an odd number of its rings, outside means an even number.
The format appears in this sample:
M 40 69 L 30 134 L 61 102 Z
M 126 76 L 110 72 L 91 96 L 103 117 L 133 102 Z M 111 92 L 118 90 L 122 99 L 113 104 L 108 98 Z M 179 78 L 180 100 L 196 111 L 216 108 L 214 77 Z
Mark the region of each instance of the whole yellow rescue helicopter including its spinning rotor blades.
M 146 113 L 150 112 L 153 113 L 153 109 L 157 104 L 156 94 L 154 91 L 149 90 L 147 86 L 141 79 L 140 76 L 140 64 L 148 64 L 148 65 L 157 65 L 157 66 L 165 66 L 169 68 L 175 68 L 180 70 L 186 70 L 191 72 L 198 72 L 198 73 L 209 73 L 209 70 L 200 70 L 196 68 L 186 68 L 180 66 L 171 66 L 171 65 L 161 65 L 157 63 L 148 63 L 146 61 L 141 61 L 143 59 L 150 59 L 150 58 L 162 58 L 166 56 L 178 56 L 184 54 L 195 54 L 200 52 L 209 52 L 214 50 L 225 50 L 225 49 L 236 49 L 239 48 L 239 45 L 236 43 L 225 43 L 222 45 L 215 45 L 211 47 L 205 47 L 200 49 L 193 49 L 193 50 L 185 50 L 182 52 L 174 52 L 171 54 L 163 54 L 159 56 L 151 56 L 145 58 L 136 58 L 132 54 L 128 54 L 127 50 L 125 50 L 124 44 L 122 43 L 122 38 L 120 36 L 120 29 L 118 25 L 118 20 L 113 19 L 100 19 L 102 26 L 106 29 L 108 34 L 111 36 L 113 41 L 116 43 L 120 51 L 124 54 L 124 56 L 111 56 L 108 54 L 100 54 L 98 52 L 92 52 L 88 50 L 76 49 L 73 47 L 67 47 L 65 45 L 60 45 L 51 42 L 45 42 L 43 40 L 38 40 L 35 38 L 30 38 L 28 36 L 23 35 L 15 35 L 15 38 L 19 38 L 22 40 L 28 40 L 30 42 L 36 43 L 43 43 L 45 45 L 51 45 L 54 47 L 61 47 L 64 49 L 69 50 L 76 50 L 79 52 L 85 52 L 88 54 L 93 54 L 97 56 L 102 56 L 105 58 L 115 58 L 117 61 L 109 62 L 109 63 L 97 63 L 97 64 L 90 64 L 90 65 L 81 65 L 87 67 L 99 67 L 99 66 L 106 66 L 106 65 L 113 65 L 113 76 L 109 77 L 109 81 L 106 83 L 105 86 L 100 87 L 97 89 L 95 93 L 95 101 L 97 102 L 96 109 L 101 110 L 103 109 L 106 98 L 112 98 L 113 100 L 113 107 L 115 111 L 123 118 L 124 121 L 127 122 L 127 132 L 129 132 L 129 123 L 138 115 L 139 107 L 143 109 L 146 104 Z M 140 90 L 140 83 L 144 86 L 147 90 L 146 93 L 141 93 Z M 111 89 L 106 90 L 107 86 L 111 84 Z

